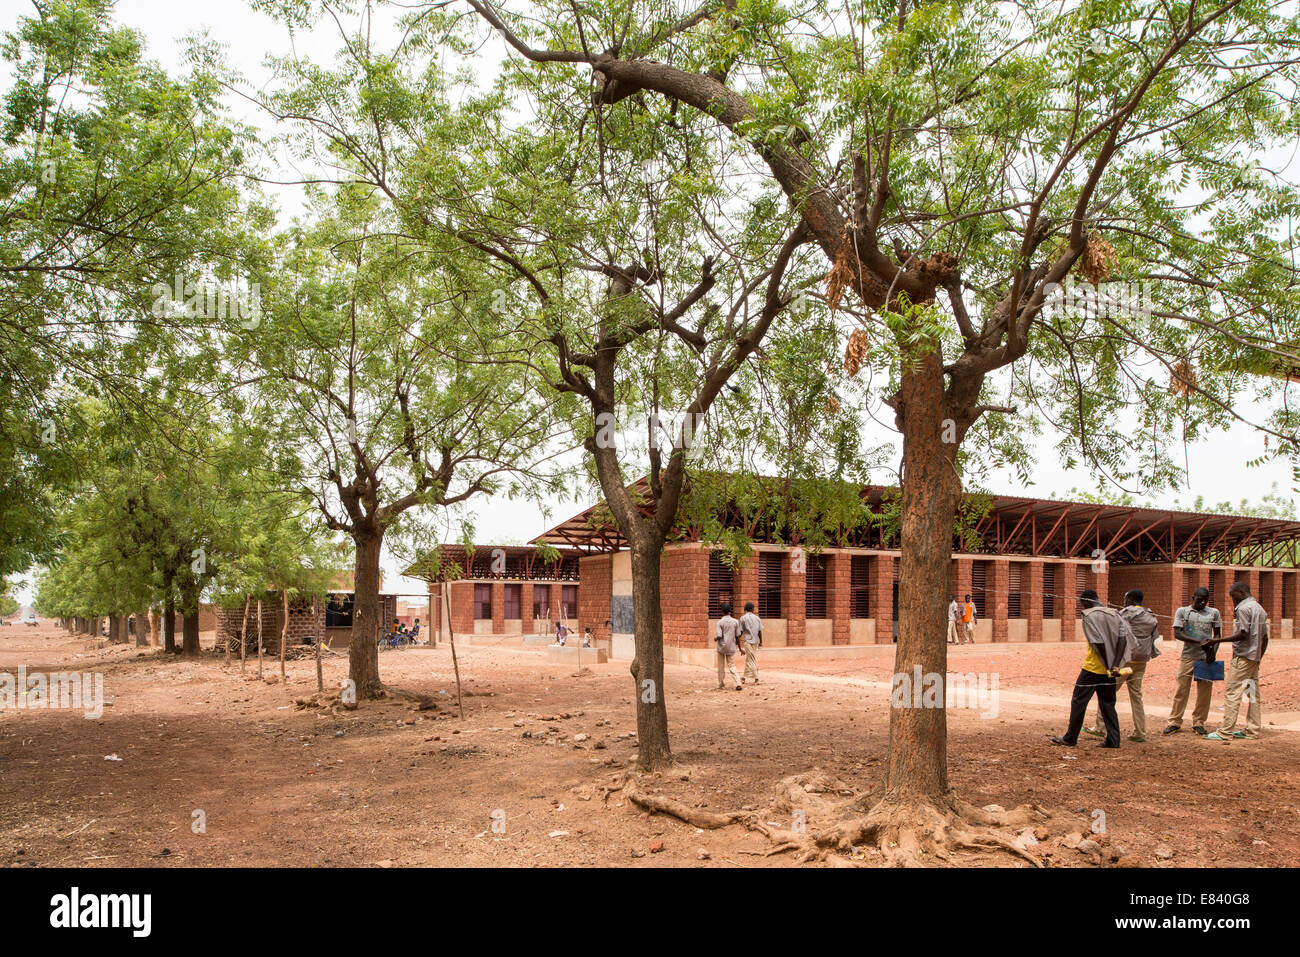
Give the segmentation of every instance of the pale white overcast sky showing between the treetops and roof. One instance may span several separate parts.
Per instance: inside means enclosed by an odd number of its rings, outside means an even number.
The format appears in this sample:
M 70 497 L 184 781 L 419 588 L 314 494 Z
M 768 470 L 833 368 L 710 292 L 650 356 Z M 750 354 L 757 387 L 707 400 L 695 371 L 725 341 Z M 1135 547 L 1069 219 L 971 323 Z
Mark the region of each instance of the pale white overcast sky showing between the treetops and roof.
M 0 0 L 0 29 L 8 30 L 20 16 L 31 12 L 29 3 Z M 322 26 L 308 35 L 292 40 L 285 27 L 270 17 L 255 12 L 243 0 L 118 0 L 116 21 L 139 30 L 147 40 L 148 56 L 161 62 L 168 70 L 181 72 L 183 38 L 188 34 L 207 30 L 208 34 L 226 44 L 228 62 L 247 77 L 252 85 L 268 82 L 269 73 L 263 66 L 268 55 L 283 55 L 292 49 L 309 55 L 320 61 L 329 61 L 337 48 L 337 31 L 333 23 Z M 231 100 L 231 108 L 248 122 L 265 126 L 265 120 L 239 101 Z M 280 192 L 285 212 L 296 212 L 296 199 L 292 191 Z M 879 415 L 879 413 L 878 413 Z M 884 416 L 880 416 L 884 417 Z M 892 442 L 898 446 L 898 436 L 889 429 L 872 425 L 866 441 L 871 445 Z M 1067 472 L 1063 469 L 1053 449 L 1054 437 L 1048 434 L 1039 443 L 1039 463 L 1034 471 L 1034 484 L 1020 485 L 1013 473 L 994 475 L 988 481 L 993 492 L 1008 494 L 1027 494 L 1049 498 L 1063 495 L 1072 488 L 1093 489 L 1096 482 L 1084 469 Z M 1260 456 L 1265 451 L 1264 438 L 1245 425 L 1238 425 L 1209 442 L 1202 442 L 1188 450 L 1187 488 L 1179 493 L 1154 497 L 1157 505 L 1173 507 L 1191 502 L 1196 495 L 1204 495 L 1206 502 L 1240 502 L 1254 499 L 1270 492 L 1277 485 L 1283 494 L 1291 492 L 1291 472 L 1286 463 L 1271 463 L 1265 467 L 1245 469 L 1244 462 Z M 894 460 L 897 467 L 897 456 Z M 879 481 L 892 484 L 893 476 L 881 473 Z M 554 524 L 580 511 L 594 501 L 585 497 L 575 506 L 572 502 L 551 503 L 551 521 L 547 523 L 532 503 L 506 499 L 482 501 L 469 510 L 476 525 L 476 538 L 480 542 L 512 544 L 524 542 Z M 385 585 L 387 590 L 422 592 L 424 583 L 396 577 L 396 563 L 385 555 Z M 18 592 L 20 599 L 30 598 L 30 585 Z

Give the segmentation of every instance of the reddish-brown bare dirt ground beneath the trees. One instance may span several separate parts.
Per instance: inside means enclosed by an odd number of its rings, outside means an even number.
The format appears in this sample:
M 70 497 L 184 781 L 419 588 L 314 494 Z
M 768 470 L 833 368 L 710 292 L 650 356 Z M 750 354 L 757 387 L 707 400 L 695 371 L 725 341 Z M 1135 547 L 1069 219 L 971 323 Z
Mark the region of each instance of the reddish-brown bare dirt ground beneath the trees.
M 98 642 L 96 642 L 98 644 Z M 0 668 L 104 675 L 103 718 L 0 711 L 0 861 L 10 866 L 789 866 L 742 826 L 699 831 L 621 800 L 602 801 L 634 758 L 625 662 L 550 664 L 540 649 L 458 648 L 467 696 L 455 710 L 450 649 L 391 650 L 394 697 L 352 713 L 295 702 L 315 664 L 226 666 L 153 650 L 98 648 L 49 628 L 0 631 Z M 1118 752 L 1048 745 L 1065 728 L 1082 645 L 950 649 L 950 671 L 998 676 L 997 716 L 949 710 L 949 771 L 975 805 L 1041 805 L 1102 845 L 1102 866 L 1294 866 L 1300 859 L 1300 641 L 1274 642 L 1261 675 L 1258 741 L 1214 744 L 1190 727 Z M 1175 654 L 1147 679 L 1152 732 L 1173 696 Z M 328 659 L 325 688 L 346 677 Z M 814 768 L 868 791 L 888 744 L 893 648 L 868 658 L 766 667 L 760 685 L 715 689 L 711 670 L 670 666 L 677 766 L 646 781 L 689 806 L 771 810 L 788 775 Z M 1216 685 L 1210 724 L 1217 723 Z M 1130 723 L 1121 693 L 1121 723 Z M 1188 723 L 1190 724 L 1190 723 Z M 588 737 L 578 739 L 580 735 Z M 116 755 L 118 759 L 105 759 Z M 805 811 L 819 817 L 818 794 Z M 800 809 L 802 810 L 802 809 Z M 1093 833 L 1096 811 L 1105 832 Z M 202 815 L 198 813 L 202 811 Z M 200 830 L 199 823 L 204 824 Z M 1071 823 L 1072 822 L 1072 823 Z M 1053 866 L 1092 866 L 1053 833 Z M 864 853 L 862 863 L 871 865 Z M 1006 854 L 968 863 L 1024 866 Z

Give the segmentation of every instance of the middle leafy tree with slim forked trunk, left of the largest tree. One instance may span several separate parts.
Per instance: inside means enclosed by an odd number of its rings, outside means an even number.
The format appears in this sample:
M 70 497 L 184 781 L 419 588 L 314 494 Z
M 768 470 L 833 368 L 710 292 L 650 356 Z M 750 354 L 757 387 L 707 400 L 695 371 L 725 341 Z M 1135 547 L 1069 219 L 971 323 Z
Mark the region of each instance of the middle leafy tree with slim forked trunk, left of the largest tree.
M 316 9 L 274 7 L 295 23 Z M 663 103 L 604 116 L 585 90 L 571 95 L 573 77 L 459 85 L 456 59 L 473 51 L 463 18 L 403 10 L 384 47 L 369 16 L 333 69 L 281 62 L 286 82 L 265 107 L 309 133 L 334 178 L 382 196 L 399 233 L 385 242 L 422 251 L 426 274 L 455 291 L 456 329 L 426 342 L 462 369 L 529 384 L 585 445 L 582 471 L 630 544 L 640 765 L 660 767 L 659 557 L 688 454 L 718 464 L 751 445 L 755 406 L 732 380 L 815 282 L 800 268 L 812 234 L 770 183 L 724 185 L 745 157 L 711 121 L 679 122 Z M 824 363 L 827 339 L 807 337 L 820 347 L 809 361 Z M 728 430 L 733 394 L 748 415 Z M 642 475 L 645 495 L 628 488 Z

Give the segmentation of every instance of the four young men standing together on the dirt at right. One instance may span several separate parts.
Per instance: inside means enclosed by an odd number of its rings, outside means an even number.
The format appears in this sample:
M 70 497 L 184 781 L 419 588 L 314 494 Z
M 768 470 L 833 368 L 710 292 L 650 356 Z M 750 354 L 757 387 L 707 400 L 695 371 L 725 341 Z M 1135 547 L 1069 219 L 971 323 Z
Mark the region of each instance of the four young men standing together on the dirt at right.
M 1192 729 L 1208 741 L 1231 741 L 1234 739 L 1257 739 L 1262 727 L 1262 706 L 1260 702 L 1260 661 L 1269 648 L 1269 616 L 1264 606 L 1251 594 L 1251 586 L 1236 581 L 1228 589 L 1232 598 L 1234 631 L 1223 635 L 1223 620 L 1218 609 L 1210 607 L 1208 588 L 1197 588 L 1192 593 L 1192 603 L 1174 612 L 1174 637 L 1183 642 L 1183 653 L 1175 672 L 1174 705 L 1169 713 L 1169 723 L 1162 733 L 1174 735 L 1183 728 L 1183 714 L 1196 684 L 1196 705 L 1192 709 Z M 1087 653 L 1083 670 L 1074 685 L 1070 701 L 1070 726 L 1065 735 L 1049 740 L 1056 745 L 1072 748 L 1079 741 L 1080 731 L 1101 737 L 1098 748 L 1119 746 L 1119 715 L 1115 711 L 1115 697 L 1119 685 L 1127 685 L 1128 702 L 1132 706 L 1134 731 L 1130 741 L 1147 740 L 1147 713 L 1143 709 L 1141 681 L 1147 664 L 1160 654 L 1156 640 L 1160 637 L 1160 623 L 1150 609 L 1143 607 L 1143 593 L 1132 589 L 1124 596 L 1124 607 L 1110 609 L 1092 589 L 1079 596 L 1083 610 L 1083 636 Z M 1225 641 L 1232 642 L 1232 661 L 1225 671 L 1223 663 L 1216 661 L 1217 648 Z M 1218 729 L 1206 726 L 1210 716 L 1210 697 L 1214 681 L 1226 676 L 1227 689 L 1223 693 L 1223 722 Z M 1101 726 L 1096 722 L 1084 727 L 1088 703 L 1097 696 L 1097 709 Z M 1242 710 L 1242 698 L 1247 700 L 1245 729 L 1236 729 L 1236 719 Z

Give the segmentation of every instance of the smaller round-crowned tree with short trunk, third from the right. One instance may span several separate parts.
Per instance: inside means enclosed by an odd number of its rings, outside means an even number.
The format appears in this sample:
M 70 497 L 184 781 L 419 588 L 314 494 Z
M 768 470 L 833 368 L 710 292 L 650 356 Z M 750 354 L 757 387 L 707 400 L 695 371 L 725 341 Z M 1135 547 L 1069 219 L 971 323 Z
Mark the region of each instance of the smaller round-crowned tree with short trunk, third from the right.
M 537 494 L 524 464 L 549 441 L 549 415 L 517 376 L 445 359 L 462 335 L 455 270 L 424 261 L 364 186 L 316 198 L 269 291 L 272 321 L 237 339 L 255 403 L 278 421 L 281 488 L 298 488 L 355 546 L 350 676 L 361 698 L 378 675 L 380 555 L 413 510 L 477 494 Z M 526 475 L 532 488 L 512 484 Z

